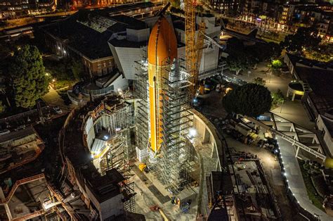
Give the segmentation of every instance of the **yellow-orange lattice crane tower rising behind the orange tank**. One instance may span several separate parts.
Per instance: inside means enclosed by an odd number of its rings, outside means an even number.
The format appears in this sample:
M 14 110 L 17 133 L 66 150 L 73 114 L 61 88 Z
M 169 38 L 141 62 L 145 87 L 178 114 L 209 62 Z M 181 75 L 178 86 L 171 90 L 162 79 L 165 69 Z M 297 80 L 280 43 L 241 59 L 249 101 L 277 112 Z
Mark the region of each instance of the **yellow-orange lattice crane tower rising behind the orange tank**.
M 195 6 L 197 2 L 194 0 L 185 0 L 185 57 L 186 69 L 192 78 L 191 94 L 196 96 L 198 86 L 198 75 L 200 69 L 200 61 L 202 56 L 202 46 L 204 44 L 204 23 L 199 25 L 199 34 L 197 44 L 195 41 Z

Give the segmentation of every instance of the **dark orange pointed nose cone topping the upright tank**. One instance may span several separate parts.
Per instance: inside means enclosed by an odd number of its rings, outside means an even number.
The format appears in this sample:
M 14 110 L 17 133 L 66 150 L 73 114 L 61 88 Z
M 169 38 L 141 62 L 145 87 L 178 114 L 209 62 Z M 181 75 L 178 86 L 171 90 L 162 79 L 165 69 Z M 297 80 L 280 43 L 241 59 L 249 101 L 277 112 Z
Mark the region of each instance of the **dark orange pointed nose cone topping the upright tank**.
M 177 39 L 174 29 L 161 16 L 150 33 L 148 42 L 148 62 L 152 65 L 164 65 L 177 58 Z

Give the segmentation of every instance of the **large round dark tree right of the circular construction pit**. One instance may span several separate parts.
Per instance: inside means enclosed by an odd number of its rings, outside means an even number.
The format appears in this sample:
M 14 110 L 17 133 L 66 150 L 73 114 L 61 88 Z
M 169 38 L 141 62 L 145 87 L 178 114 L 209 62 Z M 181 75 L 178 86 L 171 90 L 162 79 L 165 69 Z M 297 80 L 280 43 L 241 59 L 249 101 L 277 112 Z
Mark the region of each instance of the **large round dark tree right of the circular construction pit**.
M 244 84 L 230 91 L 223 98 L 228 113 L 257 117 L 270 110 L 272 97 L 266 87 L 259 84 Z

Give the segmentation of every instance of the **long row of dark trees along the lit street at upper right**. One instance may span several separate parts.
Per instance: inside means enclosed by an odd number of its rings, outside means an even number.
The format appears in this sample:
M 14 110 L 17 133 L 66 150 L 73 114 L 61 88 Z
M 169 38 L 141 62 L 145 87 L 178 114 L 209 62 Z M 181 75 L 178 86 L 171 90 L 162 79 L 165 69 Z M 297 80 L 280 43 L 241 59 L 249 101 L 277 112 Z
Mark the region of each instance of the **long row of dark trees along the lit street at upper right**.
M 318 61 L 328 61 L 332 59 L 332 45 L 320 44 L 322 39 L 318 35 L 318 30 L 313 27 L 300 27 L 295 34 L 289 34 L 285 40 L 276 44 L 254 44 L 244 46 L 243 42 L 237 38 L 228 39 L 226 52 L 229 54 L 226 59 L 228 67 L 238 75 L 242 70 L 246 70 L 261 61 L 275 59 L 273 67 L 281 66 L 279 58 L 282 51 L 294 53 L 316 59 Z M 325 53 L 323 53 L 325 51 Z

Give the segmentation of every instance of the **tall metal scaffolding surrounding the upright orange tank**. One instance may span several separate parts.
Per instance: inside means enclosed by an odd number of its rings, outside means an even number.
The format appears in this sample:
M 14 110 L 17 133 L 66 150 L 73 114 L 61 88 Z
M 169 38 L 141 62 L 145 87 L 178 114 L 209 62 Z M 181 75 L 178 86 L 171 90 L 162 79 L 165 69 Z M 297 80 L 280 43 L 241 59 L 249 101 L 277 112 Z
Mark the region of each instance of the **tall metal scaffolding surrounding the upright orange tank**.
M 192 127 L 192 113 L 188 106 L 190 99 L 191 76 L 185 71 L 184 59 L 174 63 L 165 63 L 162 73 L 162 89 L 159 90 L 160 148 L 154 153 L 150 145 L 150 117 L 148 93 L 148 63 L 143 57 L 137 62 L 135 94 L 138 99 L 136 108 L 136 146 L 150 152 L 148 167 L 159 182 L 173 194 L 178 194 L 190 182 L 188 162 L 190 144 L 188 134 Z

